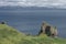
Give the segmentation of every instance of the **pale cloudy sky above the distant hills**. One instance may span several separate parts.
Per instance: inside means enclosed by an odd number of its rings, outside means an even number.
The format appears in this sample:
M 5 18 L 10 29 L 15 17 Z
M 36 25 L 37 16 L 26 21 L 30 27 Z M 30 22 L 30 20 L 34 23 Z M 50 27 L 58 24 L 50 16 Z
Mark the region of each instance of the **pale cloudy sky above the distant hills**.
M 0 0 L 4 6 L 66 8 L 66 0 Z

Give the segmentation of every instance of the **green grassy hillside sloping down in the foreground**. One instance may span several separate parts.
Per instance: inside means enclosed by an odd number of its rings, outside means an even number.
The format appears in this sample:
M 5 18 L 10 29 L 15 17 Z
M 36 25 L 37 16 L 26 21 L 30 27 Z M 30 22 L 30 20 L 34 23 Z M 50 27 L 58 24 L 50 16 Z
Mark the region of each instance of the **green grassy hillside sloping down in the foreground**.
M 46 35 L 26 36 L 9 25 L 0 24 L 0 44 L 66 44 L 66 40 Z

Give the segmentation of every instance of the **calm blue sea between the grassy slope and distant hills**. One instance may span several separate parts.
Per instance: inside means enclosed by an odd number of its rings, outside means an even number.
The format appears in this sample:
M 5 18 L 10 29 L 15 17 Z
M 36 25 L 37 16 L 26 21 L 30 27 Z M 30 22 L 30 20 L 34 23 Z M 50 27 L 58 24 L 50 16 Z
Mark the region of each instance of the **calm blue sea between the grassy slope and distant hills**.
M 55 9 L 0 9 L 0 22 L 6 21 L 8 25 L 18 31 L 36 35 L 41 30 L 43 21 L 57 26 L 58 36 L 66 37 L 66 10 Z

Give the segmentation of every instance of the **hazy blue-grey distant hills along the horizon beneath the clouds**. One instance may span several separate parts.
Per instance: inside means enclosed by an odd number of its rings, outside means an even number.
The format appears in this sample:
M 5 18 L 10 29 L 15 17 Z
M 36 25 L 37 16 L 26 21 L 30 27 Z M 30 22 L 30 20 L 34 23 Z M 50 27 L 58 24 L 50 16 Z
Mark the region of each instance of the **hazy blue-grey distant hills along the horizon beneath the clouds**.
M 65 9 L 47 7 L 0 7 L 0 10 L 65 10 Z

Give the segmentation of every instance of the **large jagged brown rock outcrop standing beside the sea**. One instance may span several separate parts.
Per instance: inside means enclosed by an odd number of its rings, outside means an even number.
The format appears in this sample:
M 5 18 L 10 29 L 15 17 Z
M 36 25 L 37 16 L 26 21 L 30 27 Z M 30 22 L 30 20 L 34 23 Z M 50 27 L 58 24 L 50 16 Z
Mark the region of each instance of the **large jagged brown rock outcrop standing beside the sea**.
M 57 29 L 56 26 L 53 26 L 46 22 L 43 22 L 41 25 L 41 31 L 38 32 L 38 35 L 46 34 L 47 36 L 57 36 Z

